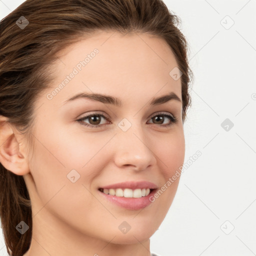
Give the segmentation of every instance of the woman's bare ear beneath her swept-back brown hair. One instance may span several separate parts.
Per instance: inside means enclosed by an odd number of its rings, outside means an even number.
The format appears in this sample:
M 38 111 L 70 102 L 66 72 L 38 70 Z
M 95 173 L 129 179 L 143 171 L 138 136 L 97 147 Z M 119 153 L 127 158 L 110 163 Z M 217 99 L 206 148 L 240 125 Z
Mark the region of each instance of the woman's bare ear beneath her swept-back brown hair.
M 16 175 L 29 172 L 24 141 L 24 135 L 0 115 L 0 162 Z

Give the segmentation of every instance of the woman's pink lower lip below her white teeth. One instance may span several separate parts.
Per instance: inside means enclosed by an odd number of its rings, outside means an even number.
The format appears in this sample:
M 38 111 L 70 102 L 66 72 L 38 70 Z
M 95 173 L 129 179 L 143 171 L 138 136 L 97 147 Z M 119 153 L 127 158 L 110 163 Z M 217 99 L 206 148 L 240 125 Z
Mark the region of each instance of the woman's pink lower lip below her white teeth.
M 124 197 L 124 196 L 115 196 L 111 194 L 105 194 L 98 190 L 98 192 L 104 196 L 107 200 L 117 204 L 120 207 L 130 209 L 130 210 L 139 210 L 151 203 L 149 200 L 149 197 L 154 194 L 156 189 L 153 189 L 148 195 L 142 196 L 139 198 L 133 198 L 133 197 Z

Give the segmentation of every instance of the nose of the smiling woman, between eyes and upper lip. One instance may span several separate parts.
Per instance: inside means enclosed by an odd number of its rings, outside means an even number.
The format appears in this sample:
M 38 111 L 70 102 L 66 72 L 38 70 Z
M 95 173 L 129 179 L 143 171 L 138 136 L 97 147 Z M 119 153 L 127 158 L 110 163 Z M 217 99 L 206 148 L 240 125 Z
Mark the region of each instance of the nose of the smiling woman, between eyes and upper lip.
M 114 136 L 114 162 L 119 168 L 141 171 L 156 163 L 153 139 L 139 125 L 127 131 L 118 130 Z

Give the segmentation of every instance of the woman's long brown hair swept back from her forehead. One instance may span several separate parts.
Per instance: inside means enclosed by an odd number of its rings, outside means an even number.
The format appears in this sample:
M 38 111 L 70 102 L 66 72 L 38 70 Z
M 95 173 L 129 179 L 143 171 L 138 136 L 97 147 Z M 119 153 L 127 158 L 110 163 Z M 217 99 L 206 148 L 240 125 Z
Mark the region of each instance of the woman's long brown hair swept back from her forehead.
M 16 23 L 21 16 L 29 22 L 23 29 Z M 33 106 L 53 78 L 49 65 L 57 60 L 56 53 L 84 34 L 113 30 L 148 32 L 168 43 L 182 72 L 184 121 L 193 75 L 179 23 L 162 0 L 26 0 L 0 21 L 0 115 L 29 137 Z M 0 175 L 0 219 L 7 252 L 23 255 L 32 236 L 29 193 L 23 176 L 1 163 Z M 24 234 L 15 228 L 21 220 L 29 226 Z

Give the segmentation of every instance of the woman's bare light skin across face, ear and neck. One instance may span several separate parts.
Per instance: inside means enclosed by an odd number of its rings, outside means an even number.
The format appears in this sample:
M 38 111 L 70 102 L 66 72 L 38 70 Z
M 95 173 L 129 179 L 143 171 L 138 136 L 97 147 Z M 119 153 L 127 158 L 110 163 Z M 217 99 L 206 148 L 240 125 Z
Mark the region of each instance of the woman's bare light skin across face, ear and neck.
M 52 99 L 47 99 L 83 56 L 98 54 Z M 174 92 L 181 99 L 181 81 L 169 75 L 177 66 L 168 44 L 150 34 L 100 31 L 58 54 L 51 87 L 40 94 L 34 110 L 34 147 L 7 122 L 1 125 L 0 161 L 23 175 L 32 202 L 32 241 L 25 256 L 149 256 L 149 238 L 165 217 L 179 177 L 142 210 L 129 210 L 105 200 L 98 187 L 146 180 L 160 188 L 184 161 L 182 103 L 172 99 L 150 106 L 153 97 Z M 118 107 L 86 98 L 65 100 L 78 92 L 118 97 Z M 164 111 L 177 118 L 153 122 Z M 100 127 L 77 119 L 103 112 Z M 126 118 L 127 131 L 117 124 Z M 1 117 L 4 121 L 4 117 Z M 90 123 L 88 118 L 83 120 Z M 93 124 L 92 124 L 93 125 Z M 95 124 L 94 124 L 95 125 Z M 5 141 L 5 142 L 4 142 Z M 75 169 L 80 178 L 66 175 Z M 118 226 L 131 226 L 123 234 Z M 150 223 L 150 224 L 149 224 Z

